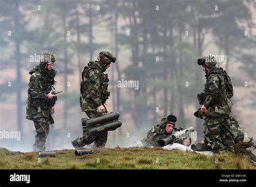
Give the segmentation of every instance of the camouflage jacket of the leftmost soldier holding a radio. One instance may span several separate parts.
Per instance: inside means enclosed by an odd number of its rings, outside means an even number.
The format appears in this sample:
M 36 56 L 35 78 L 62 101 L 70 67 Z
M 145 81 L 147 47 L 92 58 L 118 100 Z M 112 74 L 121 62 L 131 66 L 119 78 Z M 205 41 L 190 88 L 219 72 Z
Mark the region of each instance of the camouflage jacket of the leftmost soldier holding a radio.
M 50 114 L 53 99 L 48 99 L 48 93 L 51 91 L 52 85 L 55 84 L 56 73 L 56 70 L 47 70 L 40 64 L 29 71 L 31 77 L 26 103 L 27 119 L 46 124 L 54 123 Z

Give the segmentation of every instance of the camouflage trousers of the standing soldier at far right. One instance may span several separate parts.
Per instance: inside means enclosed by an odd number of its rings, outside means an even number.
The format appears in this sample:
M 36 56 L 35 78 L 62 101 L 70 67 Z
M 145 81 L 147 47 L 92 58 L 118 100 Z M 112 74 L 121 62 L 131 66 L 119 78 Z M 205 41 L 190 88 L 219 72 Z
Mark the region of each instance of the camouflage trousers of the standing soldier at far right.
M 205 142 L 212 145 L 214 152 L 218 150 L 234 150 L 233 128 L 229 118 L 205 118 Z

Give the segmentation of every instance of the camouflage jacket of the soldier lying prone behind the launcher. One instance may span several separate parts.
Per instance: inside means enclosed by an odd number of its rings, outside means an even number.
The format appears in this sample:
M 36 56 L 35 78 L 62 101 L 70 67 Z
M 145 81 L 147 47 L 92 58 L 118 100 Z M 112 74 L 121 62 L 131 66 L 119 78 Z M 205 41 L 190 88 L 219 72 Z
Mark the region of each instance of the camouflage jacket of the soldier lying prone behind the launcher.
M 158 140 L 167 138 L 171 134 L 166 133 L 164 128 L 161 128 L 159 124 L 152 126 L 151 130 L 147 133 L 146 138 L 142 140 L 142 143 L 145 147 L 160 147 L 158 145 Z M 176 141 L 183 145 L 183 140 Z

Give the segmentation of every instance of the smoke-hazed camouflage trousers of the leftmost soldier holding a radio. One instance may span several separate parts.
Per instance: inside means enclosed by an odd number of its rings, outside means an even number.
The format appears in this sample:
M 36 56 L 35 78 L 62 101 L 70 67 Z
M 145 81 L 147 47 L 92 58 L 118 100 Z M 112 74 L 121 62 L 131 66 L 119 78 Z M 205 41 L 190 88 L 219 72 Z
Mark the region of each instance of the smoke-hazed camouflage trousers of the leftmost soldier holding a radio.
M 50 125 L 41 121 L 33 121 L 36 128 L 35 143 L 33 144 L 33 151 L 44 151 L 46 138 L 49 134 Z

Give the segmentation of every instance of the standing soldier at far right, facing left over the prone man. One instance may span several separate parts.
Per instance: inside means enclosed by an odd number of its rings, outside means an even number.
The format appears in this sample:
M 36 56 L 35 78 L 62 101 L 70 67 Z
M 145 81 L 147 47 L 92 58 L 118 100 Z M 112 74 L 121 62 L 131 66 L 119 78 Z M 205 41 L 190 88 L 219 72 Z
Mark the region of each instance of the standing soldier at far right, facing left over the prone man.
M 242 140 L 243 133 L 231 114 L 233 88 L 230 77 L 222 68 L 215 66 L 214 56 L 204 56 L 198 59 L 198 64 L 206 73 L 205 89 L 198 94 L 202 106 L 195 113 L 205 120 L 204 143 L 210 143 L 213 152 L 233 151 L 234 138 Z

